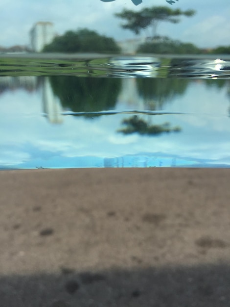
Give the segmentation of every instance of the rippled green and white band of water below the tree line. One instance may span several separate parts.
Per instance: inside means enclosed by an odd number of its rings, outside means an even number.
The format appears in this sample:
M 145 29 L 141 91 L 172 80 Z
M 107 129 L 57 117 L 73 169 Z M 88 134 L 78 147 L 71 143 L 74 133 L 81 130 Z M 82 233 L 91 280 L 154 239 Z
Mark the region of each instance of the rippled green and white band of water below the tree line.
M 230 78 L 230 56 L 1 54 L 0 76 Z

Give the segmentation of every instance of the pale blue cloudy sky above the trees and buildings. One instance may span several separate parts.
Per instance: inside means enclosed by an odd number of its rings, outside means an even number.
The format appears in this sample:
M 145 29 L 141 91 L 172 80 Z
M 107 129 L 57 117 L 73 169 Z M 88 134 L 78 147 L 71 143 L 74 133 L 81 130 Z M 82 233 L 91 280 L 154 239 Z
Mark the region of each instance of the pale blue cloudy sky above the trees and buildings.
M 28 45 L 29 30 L 38 21 L 50 21 L 58 34 L 66 30 L 88 27 L 116 40 L 135 35 L 119 27 L 115 12 L 123 8 L 165 5 L 171 8 L 196 10 L 192 18 L 182 18 L 177 25 L 161 23 L 158 32 L 174 39 L 192 42 L 199 47 L 230 45 L 229 0 L 179 0 L 173 5 L 165 0 L 143 0 L 135 6 L 131 0 L 0 0 L 0 46 Z

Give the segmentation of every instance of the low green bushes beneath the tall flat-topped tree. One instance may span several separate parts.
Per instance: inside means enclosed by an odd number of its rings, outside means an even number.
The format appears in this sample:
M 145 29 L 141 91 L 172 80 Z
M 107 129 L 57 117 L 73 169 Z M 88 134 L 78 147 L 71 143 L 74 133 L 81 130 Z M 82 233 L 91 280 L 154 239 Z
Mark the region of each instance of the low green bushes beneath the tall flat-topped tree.
M 201 50 L 191 43 L 182 43 L 171 40 L 168 37 L 161 37 L 156 41 L 146 42 L 139 46 L 139 53 L 160 53 L 160 54 L 199 54 Z

